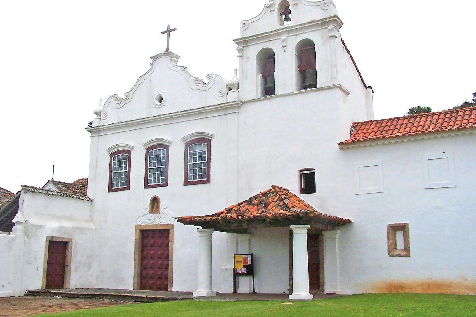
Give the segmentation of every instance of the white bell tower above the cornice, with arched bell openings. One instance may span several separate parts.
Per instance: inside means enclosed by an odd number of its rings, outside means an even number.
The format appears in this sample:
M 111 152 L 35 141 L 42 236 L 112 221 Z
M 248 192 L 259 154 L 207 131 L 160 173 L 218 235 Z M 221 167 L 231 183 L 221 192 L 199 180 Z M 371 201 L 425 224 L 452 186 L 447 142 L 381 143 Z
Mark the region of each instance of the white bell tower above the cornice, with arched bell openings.
M 234 40 L 240 100 L 337 87 L 352 94 L 344 126 L 373 119 L 373 91 L 341 39 L 342 25 L 332 0 L 269 0 L 260 14 L 241 21 Z

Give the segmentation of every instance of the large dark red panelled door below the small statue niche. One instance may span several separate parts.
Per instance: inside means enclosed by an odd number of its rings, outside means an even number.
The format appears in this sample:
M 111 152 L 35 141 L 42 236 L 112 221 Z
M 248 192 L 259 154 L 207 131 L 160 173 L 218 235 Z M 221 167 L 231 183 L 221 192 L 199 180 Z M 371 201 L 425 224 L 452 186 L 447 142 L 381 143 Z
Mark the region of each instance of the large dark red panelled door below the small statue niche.
M 168 291 L 169 229 L 140 231 L 140 289 Z

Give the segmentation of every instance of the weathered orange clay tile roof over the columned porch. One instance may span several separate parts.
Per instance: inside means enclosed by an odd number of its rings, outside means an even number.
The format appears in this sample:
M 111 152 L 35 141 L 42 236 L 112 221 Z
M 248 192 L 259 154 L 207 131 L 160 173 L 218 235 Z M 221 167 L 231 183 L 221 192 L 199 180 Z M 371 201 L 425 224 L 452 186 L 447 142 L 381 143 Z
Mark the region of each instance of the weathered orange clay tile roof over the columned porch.
M 312 218 L 319 223 L 332 226 L 341 226 L 352 222 L 349 219 L 324 215 L 288 189 L 276 185 L 213 215 L 180 217 L 177 219 L 178 222 L 186 225 L 199 225 L 202 222 L 217 220 L 290 219 L 302 217 Z

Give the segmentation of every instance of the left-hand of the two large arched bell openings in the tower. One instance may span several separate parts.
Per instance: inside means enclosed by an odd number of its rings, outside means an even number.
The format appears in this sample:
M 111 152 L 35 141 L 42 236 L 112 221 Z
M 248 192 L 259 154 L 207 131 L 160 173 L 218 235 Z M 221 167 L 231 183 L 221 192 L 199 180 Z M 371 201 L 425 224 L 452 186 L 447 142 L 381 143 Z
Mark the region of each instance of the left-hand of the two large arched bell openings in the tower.
M 256 77 L 258 97 L 276 94 L 274 50 L 264 48 L 256 56 Z

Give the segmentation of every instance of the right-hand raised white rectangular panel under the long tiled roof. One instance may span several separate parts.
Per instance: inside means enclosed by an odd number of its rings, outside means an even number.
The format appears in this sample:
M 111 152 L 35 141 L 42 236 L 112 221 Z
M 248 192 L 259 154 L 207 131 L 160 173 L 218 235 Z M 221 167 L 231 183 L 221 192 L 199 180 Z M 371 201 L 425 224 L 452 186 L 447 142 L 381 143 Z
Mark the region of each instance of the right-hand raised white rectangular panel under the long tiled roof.
M 423 181 L 425 188 L 456 187 L 453 153 L 424 155 Z

